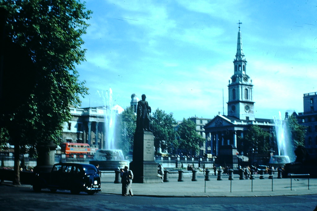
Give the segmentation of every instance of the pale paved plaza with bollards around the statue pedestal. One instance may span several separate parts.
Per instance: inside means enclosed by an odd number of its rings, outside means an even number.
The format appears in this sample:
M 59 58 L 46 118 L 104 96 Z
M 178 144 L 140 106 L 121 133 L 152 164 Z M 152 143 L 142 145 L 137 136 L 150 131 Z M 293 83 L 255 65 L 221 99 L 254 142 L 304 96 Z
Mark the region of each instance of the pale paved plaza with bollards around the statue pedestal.
M 204 181 L 203 172 L 197 172 L 197 181 L 191 181 L 191 174 L 184 175 L 183 182 L 178 182 L 178 173 L 169 174 L 169 182 L 165 183 L 133 183 L 134 195 L 147 196 L 180 196 L 180 197 L 211 197 L 211 196 L 274 196 L 274 195 L 309 195 L 317 194 L 317 179 L 293 178 L 277 179 L 275 174 L 272 179 L 259 179 L 258 175 L 252 181 L 250 179 L 239 180 L 234 175 L 232 181 L 228 176 L 222 176 L 218 181 L 217 176 L 209 176 L 209 181 Z M 114 173 L 103 173 L 101 176 L 101 193 L 121 194 L 121 183 L 114 183 Z M 231 191 L 230 191 L 231 183 Z M 253 183 L 253 184 L 252 184 Z M 206 185 L 205 185 L 206 184 Z

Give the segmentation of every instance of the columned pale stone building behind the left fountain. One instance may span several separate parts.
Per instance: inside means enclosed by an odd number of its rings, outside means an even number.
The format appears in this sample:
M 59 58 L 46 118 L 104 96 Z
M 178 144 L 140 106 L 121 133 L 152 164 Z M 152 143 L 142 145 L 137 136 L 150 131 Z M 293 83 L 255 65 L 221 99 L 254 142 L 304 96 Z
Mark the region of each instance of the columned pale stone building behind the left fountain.
M 106 141 L 105 117 L 107 109 L 103 106 L 89 108 L 70 107 L 72 119 L 65 122 L 62 142 L 87 143 L 103 148 Z M 120 114 L 123 109 L 116 105 L 114 112 Z

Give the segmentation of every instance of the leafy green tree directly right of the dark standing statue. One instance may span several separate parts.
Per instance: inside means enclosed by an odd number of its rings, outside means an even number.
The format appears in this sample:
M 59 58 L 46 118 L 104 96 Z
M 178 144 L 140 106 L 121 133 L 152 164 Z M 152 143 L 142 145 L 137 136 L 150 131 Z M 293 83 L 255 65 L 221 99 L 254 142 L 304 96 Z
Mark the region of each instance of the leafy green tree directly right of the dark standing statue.
M 166 114 L 165 111 L 156 109 L 152 115 L 151 127 L 154 135 L 155 153 L 158 153 L 159 147 L 163 152 L 174 153 L 176 141 L 175 126 L 177 121 L 173 114 Z

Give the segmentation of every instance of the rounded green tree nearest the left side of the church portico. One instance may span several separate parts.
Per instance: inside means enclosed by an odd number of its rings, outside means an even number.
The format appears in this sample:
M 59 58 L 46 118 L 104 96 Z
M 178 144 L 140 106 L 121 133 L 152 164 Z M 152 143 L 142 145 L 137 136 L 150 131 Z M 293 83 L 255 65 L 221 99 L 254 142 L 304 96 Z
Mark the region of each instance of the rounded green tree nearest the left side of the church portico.
M 204 142 L 204 138 L 197 133 L 195 122 L 185 119 L 179 125 L 178 130 L 178 150 L 183 155 L 196 155 L 199 146 Z

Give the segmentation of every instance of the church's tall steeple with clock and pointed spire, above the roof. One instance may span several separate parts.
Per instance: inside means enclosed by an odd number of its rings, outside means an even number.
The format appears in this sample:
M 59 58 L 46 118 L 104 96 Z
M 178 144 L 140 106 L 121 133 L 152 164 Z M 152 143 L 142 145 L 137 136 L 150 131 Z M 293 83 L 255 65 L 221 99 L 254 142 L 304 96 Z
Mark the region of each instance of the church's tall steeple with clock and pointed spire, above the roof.
M 238 43 L 236 59 L 234 59 L 234 74 L 229 80 L 228 91 L 228 116 L 234 116 L 241 120 L 255 120 L 254 117 L 254 102 L 252 100 L 252 80 L 246 74 L 247 60 L 244 59 L 242 37 L 238 31 Z

